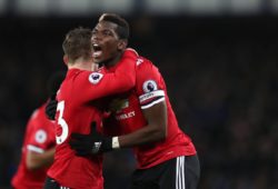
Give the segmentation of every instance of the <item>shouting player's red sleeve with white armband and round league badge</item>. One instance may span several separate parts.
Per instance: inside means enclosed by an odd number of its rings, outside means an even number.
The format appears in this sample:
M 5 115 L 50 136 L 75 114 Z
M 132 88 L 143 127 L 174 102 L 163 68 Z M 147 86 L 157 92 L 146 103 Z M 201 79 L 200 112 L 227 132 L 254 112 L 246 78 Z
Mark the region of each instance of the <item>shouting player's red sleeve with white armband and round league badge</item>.
M 139 58 L 137 61 L 136 86 L 141 109 L 150 108 L 165 100 L 165 81 L 158 68 L 145 58 Z

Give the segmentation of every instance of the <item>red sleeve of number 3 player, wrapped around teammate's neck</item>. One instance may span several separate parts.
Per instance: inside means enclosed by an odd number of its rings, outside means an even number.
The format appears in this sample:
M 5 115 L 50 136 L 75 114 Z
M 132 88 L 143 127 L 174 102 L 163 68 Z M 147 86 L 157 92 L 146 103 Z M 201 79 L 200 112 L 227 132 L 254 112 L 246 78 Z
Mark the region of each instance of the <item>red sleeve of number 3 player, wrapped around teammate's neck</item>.
M 127 50 L 117 63 L 115 72 L 101 73 L 82 71 L 75 79 L 73 91 L 82 93 L 82 100 L 89 101 L 109 94 L 130 90 L 136 84 L 136 62 L 138 56 Z

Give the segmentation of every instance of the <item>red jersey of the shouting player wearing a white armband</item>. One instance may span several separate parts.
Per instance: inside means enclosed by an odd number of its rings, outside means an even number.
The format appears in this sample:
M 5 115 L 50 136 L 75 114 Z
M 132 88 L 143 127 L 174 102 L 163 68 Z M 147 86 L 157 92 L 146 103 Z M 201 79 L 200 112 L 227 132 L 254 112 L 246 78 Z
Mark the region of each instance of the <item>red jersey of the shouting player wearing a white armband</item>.
M 116 68 L 110 70 L 103 68 L 102 71 L 115 71 Z M 166 101 L 167 105 L 168 135 L 166 140 L 133 148 L 139 169 L 150 168 L 179 156 L 196 155 L 191 139 L 178 127 L 177 118 L 167 96 L 166 83 L 152 62 L 142 57 L 138 59 L 136 88 L 118 96 L 118 98 L 126 99 L 126 101 L 121 109 L 115 113 L 113 121 L 108 119 L 106 123 L 110 126 L 108 126 L 109 128 L 106 127 L 106 130 L 115 130 L 113 127 L 117 126 L 123 135 L 147 125 L 141 109 L 150 108 L 161 101 Z

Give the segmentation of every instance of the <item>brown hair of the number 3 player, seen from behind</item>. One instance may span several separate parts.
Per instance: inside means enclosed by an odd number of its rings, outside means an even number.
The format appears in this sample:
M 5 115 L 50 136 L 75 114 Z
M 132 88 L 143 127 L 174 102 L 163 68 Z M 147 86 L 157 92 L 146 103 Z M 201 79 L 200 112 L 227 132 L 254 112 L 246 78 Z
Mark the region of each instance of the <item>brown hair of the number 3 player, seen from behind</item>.
M 70 30 L 62 42 L 62 49 L 71 60 L 91 58 L 91 30 L 82 27 Z

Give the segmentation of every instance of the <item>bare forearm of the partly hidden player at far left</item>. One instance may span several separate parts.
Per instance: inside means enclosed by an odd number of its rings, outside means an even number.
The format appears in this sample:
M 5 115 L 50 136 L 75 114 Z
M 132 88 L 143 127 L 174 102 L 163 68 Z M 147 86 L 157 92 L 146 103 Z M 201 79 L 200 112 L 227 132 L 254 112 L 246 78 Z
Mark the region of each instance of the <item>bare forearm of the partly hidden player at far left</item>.
M 36 170 L 42 167 L 49 167 L 53 162 L 54 148 L 51 148 L 43 153 L 29 151 L 27 153 L 27 168 Z

